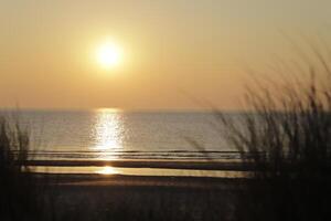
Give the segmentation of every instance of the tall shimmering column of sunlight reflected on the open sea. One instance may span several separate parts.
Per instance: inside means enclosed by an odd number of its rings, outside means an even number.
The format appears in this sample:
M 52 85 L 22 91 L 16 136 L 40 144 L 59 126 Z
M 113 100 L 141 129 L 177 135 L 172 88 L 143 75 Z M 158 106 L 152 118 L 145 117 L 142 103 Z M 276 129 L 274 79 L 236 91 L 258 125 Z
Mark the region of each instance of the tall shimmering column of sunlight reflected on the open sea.
M 93 150 L 98 152 L 99 159 L 116 159 L 114 151 L 122 150 L 122 125 L 119 109 L 97 109 L 95 124 L 95 145 Z

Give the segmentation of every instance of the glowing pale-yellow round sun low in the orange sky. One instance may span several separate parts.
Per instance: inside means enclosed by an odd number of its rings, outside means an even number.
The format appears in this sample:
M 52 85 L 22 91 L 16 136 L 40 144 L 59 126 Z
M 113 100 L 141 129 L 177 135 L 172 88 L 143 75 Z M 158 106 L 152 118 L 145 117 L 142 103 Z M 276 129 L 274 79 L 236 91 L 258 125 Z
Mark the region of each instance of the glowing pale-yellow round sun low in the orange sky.
M 96 50 L 96 61 L 105 69 L 119 65 L 122 59 L 120 46 L 113 42 L 104 42 Z

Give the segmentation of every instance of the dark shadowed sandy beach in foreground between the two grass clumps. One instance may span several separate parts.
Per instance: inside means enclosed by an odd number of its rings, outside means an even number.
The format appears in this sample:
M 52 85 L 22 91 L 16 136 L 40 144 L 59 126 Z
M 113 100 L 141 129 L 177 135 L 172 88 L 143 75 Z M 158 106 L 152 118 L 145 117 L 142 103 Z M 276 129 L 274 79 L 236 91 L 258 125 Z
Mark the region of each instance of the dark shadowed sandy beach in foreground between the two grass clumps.
M 41 175 L 61 219 L 215 220 L 231 215 L 242 180 L 121 175 Z M 71 212 L 75 211 L 75 212 Z M 77 212 L 78 211 L 78 212 Z M 226 212 L 225 212 L 226 211 Z M 53 214 L 54 215 L 54 214 Z M 226 219 L 225 219 L 226 220 Z

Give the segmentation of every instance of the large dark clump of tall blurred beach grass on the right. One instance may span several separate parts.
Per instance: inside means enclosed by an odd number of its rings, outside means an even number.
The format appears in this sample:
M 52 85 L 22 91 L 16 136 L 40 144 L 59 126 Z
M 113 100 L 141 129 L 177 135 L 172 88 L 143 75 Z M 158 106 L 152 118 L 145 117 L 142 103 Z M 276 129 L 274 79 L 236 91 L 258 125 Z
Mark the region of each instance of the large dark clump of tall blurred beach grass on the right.
M 248 88 L 248 112 L 239 122 L 218 115 L 228 143 L 253 168 L 236 204 L 238 220 L 331 215 L 331 60 L 312 54 L 296 81 L 289 73 L 282 85 L 258 82 Z

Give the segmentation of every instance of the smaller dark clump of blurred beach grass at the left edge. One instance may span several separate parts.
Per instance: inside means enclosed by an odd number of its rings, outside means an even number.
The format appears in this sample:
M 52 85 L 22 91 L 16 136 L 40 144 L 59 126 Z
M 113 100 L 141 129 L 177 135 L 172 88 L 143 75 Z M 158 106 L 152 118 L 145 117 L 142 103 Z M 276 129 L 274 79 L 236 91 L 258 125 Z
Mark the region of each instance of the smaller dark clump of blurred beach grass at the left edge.
M 0 118 L 0 219 L 41 220 L 42 197 L 24 167 L 30 148 L 29 130 Z

